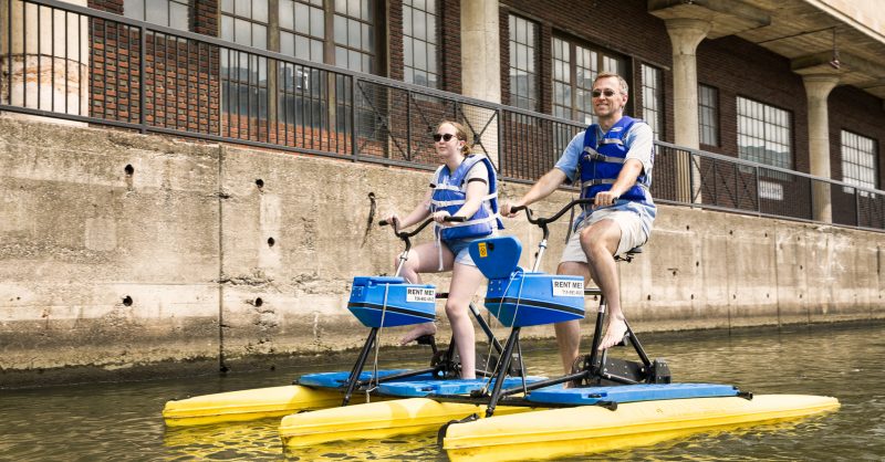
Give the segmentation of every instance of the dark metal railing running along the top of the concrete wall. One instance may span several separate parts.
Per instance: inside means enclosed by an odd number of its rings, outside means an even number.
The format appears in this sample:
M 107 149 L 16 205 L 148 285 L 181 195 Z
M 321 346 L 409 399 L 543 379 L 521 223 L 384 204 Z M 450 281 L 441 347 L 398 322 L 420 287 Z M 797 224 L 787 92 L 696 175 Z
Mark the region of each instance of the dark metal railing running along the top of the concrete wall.
M 529 183 L 585 127 L 55 0 L 0 0 L 0 111 L 433 169 L 456 119 Z M 885 192 L 656 143 L 656 201 L 883 231 Z

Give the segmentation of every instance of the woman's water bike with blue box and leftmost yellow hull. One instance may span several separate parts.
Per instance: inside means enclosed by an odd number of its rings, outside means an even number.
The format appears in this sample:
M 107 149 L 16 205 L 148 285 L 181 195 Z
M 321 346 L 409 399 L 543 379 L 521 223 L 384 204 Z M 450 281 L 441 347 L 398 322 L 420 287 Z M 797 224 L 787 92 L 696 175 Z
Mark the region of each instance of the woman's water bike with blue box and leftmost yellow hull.
M 459 221 L 461 218 L 449 217 L 448 221 Z M 433 350 L 430 365 L 416 370 L 378 370 L 377 353 L 379 347 L 378 333 L 385 327 L 406 326 L 426 323 L 436 318 L 436 300 L 446 298 L 448 294 L 437 293 L 433 285 L 409 284 L 399 276 L 408 252 L 412 249 L 410 238 L 418 234 L 433 220 L 428 219 L 413 231 L 397 232 L 397 238 L 405 250 L 399 255 L 395 276 L 357 276 L 354 277 L 347 308 L 369 327 L 366 340 L 360 350 L 357 359 L 350 371 L 321 372 L 301 376 L 292 385 L 268 387 L 249 390 L 238 390 L 221 393 L 205 395 L 166 403 L 163 417 L 167 427 L 184 427 L 197 424 L 211 424 L 233 421 L 248 421 L 254 419 L 282 417 L 292 412 L 304 410 L 325 409 L 337 406 L 347 406 L 356 393 L 372 395 L 378 385 L 415 381 L 446 382 L 446 389 L 451 393 L 469 392 L 482 385 L 481 380 L 460 380 L 460 363 L 455 353 L 455 342 L 449 343 L 445 350 L 439 350 L 433 336 L 418 338 L 418 344 L 429 345 Z M 386 222 L 381 222 L 386 225 Z M 470 312 L 480 328 L 488 336 L 491 348 L 500 354 L 501 344 L 479 309 L 472 304 Z M 375 350 L 375 367 L 365 371 L 366 363 Z M 486 358 L 486 364 L 497 361 L 494 355 Z M 480 364 L 480 363 L 478 363 Z M 488 376 L 486 370 L 477 374 Z M 511 379 L 504 379 L 508 381 Z M 383 399 L 383 398 L 382 398 Z

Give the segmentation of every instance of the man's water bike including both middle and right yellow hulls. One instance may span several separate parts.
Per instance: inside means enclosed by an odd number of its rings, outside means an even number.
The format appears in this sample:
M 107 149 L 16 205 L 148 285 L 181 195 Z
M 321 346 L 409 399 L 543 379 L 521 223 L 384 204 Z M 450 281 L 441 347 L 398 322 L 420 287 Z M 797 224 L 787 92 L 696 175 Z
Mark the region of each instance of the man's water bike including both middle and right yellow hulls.
M 518 266 L 521 245 L 512 237 L 481 240 L 470 248 L 475 263 L 489 279 L 486 308 L 512 328 L 497 378 L 503 377 L 513 358 L 520 363 L 518 370 L 527 370 L 522 355 L 512 354 L 521 353 L 522 327 L 580 319 L 585 296 L 600 297 L 591 353 L 579 360 L 573 374 L 520 381 L 511 388 L 501 380 L 489 380 L 469 396 L 447 393 L 434 384 L 383 384 L 378 387 L 382 395 L 415 398 L 288 416 L 280 427 L 285 448 L 389 438 L 441 426 L 439 439 L 451 459 L 522 460 L 574 453 L 575 448 L 577 452 L 591 452 L 589 447 L 649 443 L 711 427 L 791 419 L 839 406 L 833 398 L 753 398 L 730 385 L 673 384 L 666 361 L 650 360 L 629 325 L 624 344 L 633 346 L 637 360 L 614 358 L 608 350 L 600 353 L 607 307 L 602 292 L 584 288 L 580 276 L 535 271 L 546 248 L 548 224 L 572 207 L 587 203 L 573 201 L 550 219 L 535 220 L 527 211 L 530 222 L 543 230 L 531 272 Z M 622 261 L 629 262 L 637 253 L 633 250 Z M 564 388 L 562 384 L 566 382 L 580 387 Z M 572 414 L 582 412 L 587 416 Z M 447 416 L 457 414 L 457 419 L 444 421 Z M 607 433 L 594 433 L 596 428 L 605 428 Z M 582 439 L 587 438 L 591 442 L 581 445 Z

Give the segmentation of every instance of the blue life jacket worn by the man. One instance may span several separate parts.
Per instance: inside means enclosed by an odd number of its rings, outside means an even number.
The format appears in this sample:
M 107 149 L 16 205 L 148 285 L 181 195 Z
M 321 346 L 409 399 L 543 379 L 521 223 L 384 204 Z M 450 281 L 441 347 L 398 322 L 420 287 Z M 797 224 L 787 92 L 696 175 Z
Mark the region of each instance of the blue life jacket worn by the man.
M 600 191 L 612 189 L 621 169 L 624 168 L 629 150 L 624 144 L 624 138 L 635 123 L 643 122 L 623 116 L 600 140 L 596 140 L 598 125 L 593 124 L 587 127 L 584 134 L 584 151 L 579 160 L 581 199 L 592 199 Z M 652 145 L 652 161 L 655 159 L 654 149 L 654 145 Z M 652 172 L 643 171 L 636 178 L 636 183 L 621 195 L 621 199 L 648 202 L 648 188 L 650 187 Z

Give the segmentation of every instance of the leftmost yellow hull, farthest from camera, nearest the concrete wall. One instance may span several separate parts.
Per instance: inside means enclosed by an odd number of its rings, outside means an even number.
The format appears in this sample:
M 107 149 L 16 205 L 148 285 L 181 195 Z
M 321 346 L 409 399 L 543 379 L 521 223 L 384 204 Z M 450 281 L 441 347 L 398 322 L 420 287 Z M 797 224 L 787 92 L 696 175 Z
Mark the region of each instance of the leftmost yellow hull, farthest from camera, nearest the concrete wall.
M 341 406 L 342 399 L 337 390 L 288 385 L 168 401 L 163 418 L 167 427 L 240 422 Z

